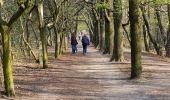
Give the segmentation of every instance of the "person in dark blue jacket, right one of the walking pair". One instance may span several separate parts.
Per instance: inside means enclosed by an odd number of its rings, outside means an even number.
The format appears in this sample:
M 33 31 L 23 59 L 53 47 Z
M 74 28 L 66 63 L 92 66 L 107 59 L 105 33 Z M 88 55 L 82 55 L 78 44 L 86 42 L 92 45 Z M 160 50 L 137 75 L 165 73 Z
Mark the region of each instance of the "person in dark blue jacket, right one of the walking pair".
M 87 54 L 87 47 L 90 44 L 90 40 L 89 40 L 89 38 L 87 37 L 86 34 L 84 34 L 84 36 L 82 37 L 81 42 L 82 42 L 82 46 L 83 46 L 83 55 L 86 55 Z

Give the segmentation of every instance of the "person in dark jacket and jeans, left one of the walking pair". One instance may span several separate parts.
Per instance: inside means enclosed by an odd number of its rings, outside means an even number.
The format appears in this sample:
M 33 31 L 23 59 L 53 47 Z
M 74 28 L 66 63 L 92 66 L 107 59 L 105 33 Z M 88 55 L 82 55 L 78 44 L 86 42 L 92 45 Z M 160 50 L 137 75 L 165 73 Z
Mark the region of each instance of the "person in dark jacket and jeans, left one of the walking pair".
M 76 35 L 72 35 L 71 36 L 71 48 L 72 48 L 72 54 L 77 52 L 77 39 L 76 39 Z

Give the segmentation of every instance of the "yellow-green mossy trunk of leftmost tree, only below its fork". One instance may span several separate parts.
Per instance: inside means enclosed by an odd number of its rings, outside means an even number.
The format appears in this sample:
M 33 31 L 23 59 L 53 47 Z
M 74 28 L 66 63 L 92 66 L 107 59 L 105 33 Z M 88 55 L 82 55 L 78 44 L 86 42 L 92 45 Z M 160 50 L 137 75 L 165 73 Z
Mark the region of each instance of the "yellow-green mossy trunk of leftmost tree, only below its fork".
M 15 96 L 14 84 L 12 77 L 12 58 L 9 42 L 10 28 L 7 25 L 1 26 L 2 34 L 2 46 L 3 46 L 3 74 L 4 74 L 4 84 L 5 84 L 5 94 L 8 97 Z

